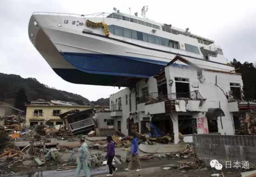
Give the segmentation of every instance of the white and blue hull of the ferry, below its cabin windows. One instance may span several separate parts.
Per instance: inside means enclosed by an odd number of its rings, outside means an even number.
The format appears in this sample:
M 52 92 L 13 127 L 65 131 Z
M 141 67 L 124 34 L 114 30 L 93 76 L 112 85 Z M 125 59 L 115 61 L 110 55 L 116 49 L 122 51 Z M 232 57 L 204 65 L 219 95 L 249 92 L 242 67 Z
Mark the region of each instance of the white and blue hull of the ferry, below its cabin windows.
M 109 38 L 105 37 L 101 27 L 87 27 L 87 19 L 104 21 L 108 25 L 119 23 L 120 26 L 125 22 L 110 18 L 48 14 L 32 15 L 29 22 L 31 42 L 52 69 L 68 82 L 128 86 L 120 82 L 124 77 L 148 78 L 156 75 L 177 54 L 202 68 L 224 71 L 234 69 L 224 63 L 206 61 L 200 54 L 113 34 Z M 181 64 L 182 67 L 189 67 L 179 61 L 174 65 L 179 67 Z

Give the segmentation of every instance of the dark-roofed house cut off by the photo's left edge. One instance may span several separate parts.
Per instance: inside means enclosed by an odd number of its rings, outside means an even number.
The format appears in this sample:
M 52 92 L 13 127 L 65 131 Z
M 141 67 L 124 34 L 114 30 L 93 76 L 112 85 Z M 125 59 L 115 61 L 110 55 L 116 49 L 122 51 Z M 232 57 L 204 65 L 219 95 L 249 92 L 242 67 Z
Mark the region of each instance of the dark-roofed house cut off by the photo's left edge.
M 4 117 L 7 115 L 24 115 L 24 111 L 10 106 L 5 102 L 0 102 L 0 126 L 4 125 Z

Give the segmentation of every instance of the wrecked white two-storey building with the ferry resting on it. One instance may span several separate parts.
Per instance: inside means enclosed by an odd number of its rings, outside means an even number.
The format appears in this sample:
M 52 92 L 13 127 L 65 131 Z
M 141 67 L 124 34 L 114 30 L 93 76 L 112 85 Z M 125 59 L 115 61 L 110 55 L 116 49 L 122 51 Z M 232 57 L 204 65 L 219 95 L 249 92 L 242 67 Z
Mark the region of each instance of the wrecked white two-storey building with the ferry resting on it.
M 242 90 L 239 73 L 203 69 L 176 56 L 159 75 L 110 95 L 109 112 L 95 117 L 102 128 L 114 127 L 125 135 L 169 134 L 174 143 L 179 133 L 186 142 L 193 141 L 193 134 L 234 135 L 256 106 L 243 101 Z

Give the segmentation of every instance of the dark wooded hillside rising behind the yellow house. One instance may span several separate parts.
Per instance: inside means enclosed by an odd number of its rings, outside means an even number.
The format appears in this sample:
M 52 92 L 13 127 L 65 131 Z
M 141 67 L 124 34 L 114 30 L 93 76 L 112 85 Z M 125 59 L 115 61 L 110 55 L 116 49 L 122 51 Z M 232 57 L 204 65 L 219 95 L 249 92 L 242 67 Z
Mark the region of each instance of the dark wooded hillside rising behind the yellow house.
M 24 95 L 25 94 L 25 95 Z M 81 95 L 73 94 L 63 90 L 50 88 L 38 82 L 35 78 L 22 78 L 18 75 L 0 73 L 0 101 L 14 104 L 20 107 L 22 101 L 34 101 L 37 99 L 74 101 L 80 105 L 108 105 L 108 99 L 89 101 Z M 15 101 L 16 100 L 16 101 Z M 20 107 L 22 109 L 22 106 Z

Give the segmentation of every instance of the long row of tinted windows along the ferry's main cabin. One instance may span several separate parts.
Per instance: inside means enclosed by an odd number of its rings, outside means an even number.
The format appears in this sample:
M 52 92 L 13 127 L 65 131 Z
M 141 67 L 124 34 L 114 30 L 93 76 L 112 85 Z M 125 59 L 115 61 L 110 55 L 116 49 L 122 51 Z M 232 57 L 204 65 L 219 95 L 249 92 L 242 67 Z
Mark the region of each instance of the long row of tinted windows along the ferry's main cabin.
M 149 42 L 149 43 L 153 43 L 153 44 L 164 45 L 167 47 L 179 49 L 178 42 L 167 39 L 167 38 L 161 38 L 159 36 L 155 36 L 155 35 L 144 33 L 144 32 L 138 32 L 135 30 L 130 30 L 128 28 L 123 28 L 123 27 L 116 26 L 116 25 L 109 25 L 108 30 L 112 34 L 115 34 L 118 36 L 123 36 L 126 38 L 133 38 L 133 39 L 137 39 L 137 40 L 141 40 L 141 41 L 145 41 L 145 42 Z M 191 45 L 191 46 L 193 46 L 193 45 Z M 193 46 L 193 47 L 195 47 L 195 46 Z M 197 48 L 197 50 L 198 50 L 198 48 Z M 194 53 L 196 53 L 196 52 L 194 52 Z

